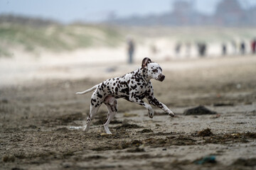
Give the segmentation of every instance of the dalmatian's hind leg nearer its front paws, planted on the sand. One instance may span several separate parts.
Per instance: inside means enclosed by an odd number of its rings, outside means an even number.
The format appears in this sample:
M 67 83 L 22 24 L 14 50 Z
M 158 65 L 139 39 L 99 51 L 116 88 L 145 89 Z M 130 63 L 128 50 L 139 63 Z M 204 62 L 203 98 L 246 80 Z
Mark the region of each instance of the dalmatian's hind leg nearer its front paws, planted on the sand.
M 108 125 L 110 124 L 110 121 L 114 118 L 114 115 L 117 113 L 117 100 L 112 96 L 107 96 L 104 103 L 107 106 L 108 111 L 107 120 L 104 123 L 104 129 L 107 134 L 112 134 L 112 132 L 110 132 L 110 129 L 108 128 Z

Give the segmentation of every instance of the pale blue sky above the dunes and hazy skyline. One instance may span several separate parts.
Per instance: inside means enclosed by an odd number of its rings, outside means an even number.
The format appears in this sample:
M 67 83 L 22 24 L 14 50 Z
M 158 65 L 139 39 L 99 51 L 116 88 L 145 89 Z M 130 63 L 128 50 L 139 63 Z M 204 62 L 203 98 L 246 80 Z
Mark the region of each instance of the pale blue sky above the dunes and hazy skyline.
M 176 0 L 0 0 L 0 14 L 52 18 L 63 23 L 97 22 L 105 20 L 111 12 L 118 17 L 126 17 L 171 11 L 174 1 Z M 219 1 L 221 0 L 194 0 L 196 9 L 208 14 L 214 13 Z M 244 8 L 256 5 L 256 0 L 239 1 Z

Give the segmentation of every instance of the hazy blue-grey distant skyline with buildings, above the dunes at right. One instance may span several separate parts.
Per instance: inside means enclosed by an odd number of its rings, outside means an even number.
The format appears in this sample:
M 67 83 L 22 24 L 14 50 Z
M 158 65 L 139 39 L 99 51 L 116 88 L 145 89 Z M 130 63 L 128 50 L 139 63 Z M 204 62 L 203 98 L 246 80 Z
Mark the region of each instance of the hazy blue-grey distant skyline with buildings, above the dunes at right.
M 159 15 L 110 19 L 108 23 L 126 26 L 256 26 L 256 6 L 243 9 L 238 0 L 221 0 L 215 14 L 196 11 L 195 0 L 174 1 L 173 10 Z

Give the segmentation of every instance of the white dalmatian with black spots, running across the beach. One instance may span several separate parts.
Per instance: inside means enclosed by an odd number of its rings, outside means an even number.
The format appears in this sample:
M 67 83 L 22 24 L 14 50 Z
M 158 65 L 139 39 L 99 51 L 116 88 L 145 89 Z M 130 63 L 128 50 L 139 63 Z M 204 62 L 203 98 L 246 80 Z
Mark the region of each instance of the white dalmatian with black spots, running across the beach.
M 171 117 L 174 117 L 174 113 L 154 97 L 154 90 L 150 79 L 164 81 L 164 78 L 165 76 L 162 74 L 159 64 L 151 62 L 146 57 L 142 60 L 142 67 L 139 67 L 134 72 L 124 74 L 122 77 L 107 79 L 93 86 L 91 89 L 77 92 L 76 94 L 87 94 L 90 91 L 94 91 L 91 97 L 90 115 L 87 118 L 86 125 L 82 127 L 83 131 L 87 132 L 89 130 L 92 119 L 95 117 L 102 103 L 105 103 L 108 113 L 104 128 L 107 134 L 112 134 L 108 125 L 117 113 L 117 98 L 124 98 L 127 101 L 144 106 L 149 111 L 149 118 L 153 118 L 153 108 L 148 103 L 142 101 L 143 98 L 146 98 L 151 105 L 161 108 Z

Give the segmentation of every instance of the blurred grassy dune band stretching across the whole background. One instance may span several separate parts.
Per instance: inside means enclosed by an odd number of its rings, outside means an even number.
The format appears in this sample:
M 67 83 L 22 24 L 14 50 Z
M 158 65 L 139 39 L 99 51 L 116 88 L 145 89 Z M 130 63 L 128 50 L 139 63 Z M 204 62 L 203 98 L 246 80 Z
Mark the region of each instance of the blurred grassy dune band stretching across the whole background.
M 63 52 L 86 47 L 117 47 L 125 43 L 127 35 L 132 35 L 139 43 L 143 43 L 146 38 L 222 43 L 232 40 L 252 40 L 256 36 L 254 28 L 124 28 L 83 24 L 34 27 L 17 23 L 0 23 L 0 57 L 11 57 L 16 47 L 32 53 L 38 50 Z

